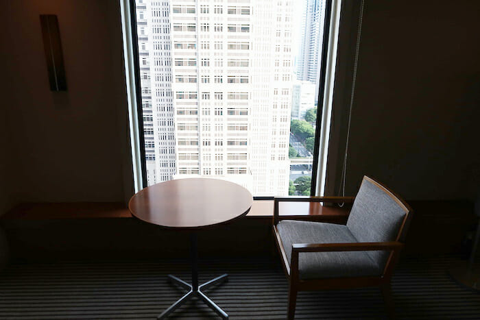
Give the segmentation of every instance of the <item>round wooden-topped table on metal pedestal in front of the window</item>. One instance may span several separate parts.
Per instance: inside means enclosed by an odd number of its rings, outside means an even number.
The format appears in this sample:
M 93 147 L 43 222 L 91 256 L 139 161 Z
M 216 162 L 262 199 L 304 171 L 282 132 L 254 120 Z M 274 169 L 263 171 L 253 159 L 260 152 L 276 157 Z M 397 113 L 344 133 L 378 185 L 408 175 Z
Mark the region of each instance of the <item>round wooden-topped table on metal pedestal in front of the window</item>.
M 186 288 L 188 292 L 159 315 L 158 319 L 167 317 L 195 296 L 220 317 L 228 319 L 227 313 L 202 292 L 213 284 L 228 280 L 228 274 L 198 285 L 197 231 L 245 216 L 252 203 L 252 194 L 242 186 L 207 178 L 161 182 L 144 188 L 130 199 L 128 208 L 134 217 L 161 227 L 190 231 L 192 283 L 168 275 L 169 280 Z

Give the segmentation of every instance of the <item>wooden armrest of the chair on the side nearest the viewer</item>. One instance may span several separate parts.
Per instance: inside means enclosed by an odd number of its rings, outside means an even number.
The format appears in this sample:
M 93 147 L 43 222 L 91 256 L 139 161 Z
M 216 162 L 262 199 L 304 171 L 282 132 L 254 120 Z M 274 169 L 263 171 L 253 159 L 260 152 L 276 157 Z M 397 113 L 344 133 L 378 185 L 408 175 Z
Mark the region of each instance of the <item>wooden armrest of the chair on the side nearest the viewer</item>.
M 294 243 L 291 252 L 330 252 L 330 251 L 380 251 L 399 250 L 403 243 L 398 241 L 381 243 Z

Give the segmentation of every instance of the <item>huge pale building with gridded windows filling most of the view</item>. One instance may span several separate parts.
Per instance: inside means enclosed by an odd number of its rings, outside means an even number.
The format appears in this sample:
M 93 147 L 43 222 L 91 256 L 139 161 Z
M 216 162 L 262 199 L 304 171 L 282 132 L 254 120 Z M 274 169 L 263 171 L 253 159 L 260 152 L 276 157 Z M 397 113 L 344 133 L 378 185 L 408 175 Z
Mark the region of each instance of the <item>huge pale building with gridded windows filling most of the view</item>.
M 149 184 L 211 176 L 287 195 L 293 1 L 140 1 L 158 32 L 138 25 Z

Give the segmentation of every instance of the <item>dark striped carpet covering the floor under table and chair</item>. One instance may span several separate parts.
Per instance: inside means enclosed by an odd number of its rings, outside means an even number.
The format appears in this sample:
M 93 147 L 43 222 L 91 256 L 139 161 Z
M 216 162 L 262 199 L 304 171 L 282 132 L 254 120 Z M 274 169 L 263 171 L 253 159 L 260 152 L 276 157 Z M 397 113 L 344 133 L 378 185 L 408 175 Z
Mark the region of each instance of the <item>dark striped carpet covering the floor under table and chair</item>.
M 409 259 L 392 282 L 400 319 L 479 319 L 480 294 L 446 274 L 456 257 Z M 230 273 L 209 297 L 230 319 L 285 319 L 287 281 L 278 262 L 260 259 L 200 262 L 201 280 Z M 155 319 L 182 295 L 167 273 L 189 280 L 187 262 L 65 262 L 16 264 L 0 273 L 0 319 Z M 300 293 L 296 319 L 379 319 L 375 288 Z M 193 299 L 173 319 L 219 319 Z

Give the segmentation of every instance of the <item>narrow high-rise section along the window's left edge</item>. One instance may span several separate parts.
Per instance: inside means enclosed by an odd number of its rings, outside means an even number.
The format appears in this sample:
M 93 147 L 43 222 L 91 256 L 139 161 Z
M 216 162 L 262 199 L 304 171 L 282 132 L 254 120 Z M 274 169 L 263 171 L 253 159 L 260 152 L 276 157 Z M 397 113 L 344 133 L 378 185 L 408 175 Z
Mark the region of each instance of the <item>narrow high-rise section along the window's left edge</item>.
M 176 173 L 169 1 L 136 1 L 147 182 Z

